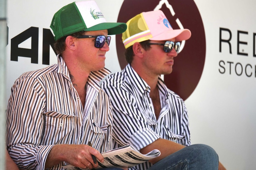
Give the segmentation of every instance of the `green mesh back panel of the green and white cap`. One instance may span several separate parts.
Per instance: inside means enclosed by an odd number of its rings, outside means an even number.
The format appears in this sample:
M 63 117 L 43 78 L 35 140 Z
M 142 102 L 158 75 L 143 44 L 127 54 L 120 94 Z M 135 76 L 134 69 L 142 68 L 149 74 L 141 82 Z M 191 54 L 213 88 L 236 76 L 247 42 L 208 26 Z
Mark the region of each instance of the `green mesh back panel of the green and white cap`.
M 86 29 L 74 2 L 62 7 L 54 14 L 50 27 L 55 35 L 55 40 Z

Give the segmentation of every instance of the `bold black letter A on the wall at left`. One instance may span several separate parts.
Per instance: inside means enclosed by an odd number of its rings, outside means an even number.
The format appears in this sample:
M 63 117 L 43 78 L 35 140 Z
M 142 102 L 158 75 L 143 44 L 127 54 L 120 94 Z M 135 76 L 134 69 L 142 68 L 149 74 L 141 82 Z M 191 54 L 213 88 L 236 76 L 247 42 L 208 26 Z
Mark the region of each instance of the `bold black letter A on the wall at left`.
M 19 48 L 18 45 L 31 37 L 31 49 Z M 31 63 L 38 64 L 38 28 L 30 27 L 11 39 L 11 61 L 18 61 L 18 56 L 31 58 Z

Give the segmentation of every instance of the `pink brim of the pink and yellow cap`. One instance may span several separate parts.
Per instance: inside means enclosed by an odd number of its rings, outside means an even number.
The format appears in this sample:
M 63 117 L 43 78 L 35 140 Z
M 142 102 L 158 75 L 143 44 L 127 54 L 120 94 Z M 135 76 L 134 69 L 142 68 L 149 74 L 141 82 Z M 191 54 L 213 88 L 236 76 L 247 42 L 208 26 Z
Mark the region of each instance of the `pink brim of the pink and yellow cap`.
M 164 33 L 161 33 L 157 36 L 150 38 L 150 40 L 163 41 L 163 40 L 175 38 L 175 41 L 183 41 L 183 40 L 189 39 L 190 37 L 191 37 L 190 30 L 182 29 L 182 30 L 165 31 Z

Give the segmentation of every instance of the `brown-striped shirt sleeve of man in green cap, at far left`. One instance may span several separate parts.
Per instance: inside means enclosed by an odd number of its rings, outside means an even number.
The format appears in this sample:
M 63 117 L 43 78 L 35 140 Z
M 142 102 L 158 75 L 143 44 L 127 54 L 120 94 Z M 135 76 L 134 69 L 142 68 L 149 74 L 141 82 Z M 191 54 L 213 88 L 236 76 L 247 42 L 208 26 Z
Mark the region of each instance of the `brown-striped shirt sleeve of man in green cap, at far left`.
M 40 144 L 45 92 L 33 77 L 20 77 L 11 89 L 6 112 L 6 145 L 20 169 L 45 169 L 53 145 Z

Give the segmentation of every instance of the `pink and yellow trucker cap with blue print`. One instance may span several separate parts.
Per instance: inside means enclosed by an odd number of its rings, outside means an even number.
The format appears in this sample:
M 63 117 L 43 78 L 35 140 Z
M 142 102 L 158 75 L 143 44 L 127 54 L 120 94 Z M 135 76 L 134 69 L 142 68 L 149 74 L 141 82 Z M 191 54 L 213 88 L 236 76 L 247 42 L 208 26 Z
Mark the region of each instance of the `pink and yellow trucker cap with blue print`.
M 146 40 L 164 41 L 175 38 L 175 41 L 183 41 L 191 36 L 188 29 L 173 30 L 161 10 L 142 12 L 126 24 L 127 30 L 122 34 L 125 48 Z

